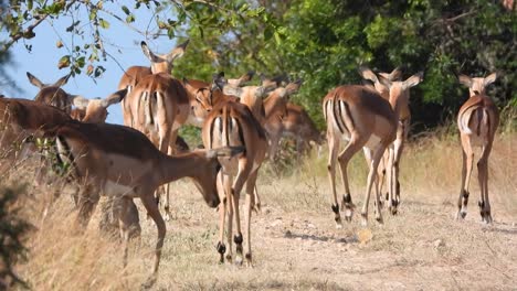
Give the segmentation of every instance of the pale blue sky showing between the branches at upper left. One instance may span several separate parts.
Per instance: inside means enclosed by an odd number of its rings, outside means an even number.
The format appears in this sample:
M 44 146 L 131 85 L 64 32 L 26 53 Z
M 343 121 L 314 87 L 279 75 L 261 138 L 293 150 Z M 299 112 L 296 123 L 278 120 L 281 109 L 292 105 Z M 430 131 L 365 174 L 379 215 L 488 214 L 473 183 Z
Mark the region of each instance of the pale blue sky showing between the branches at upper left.
M 126 4 L 133 10 L 134 1 L 118 1 L 116 4 L 106 3 L 105 9 L 115 12 L 125 19 L 120 7 Z M 156 21 L 151 10 L 148 10 L 143 6 L 139 10 L 133 11 L 136 15 L 136 22 L 133 23 L 135 28 L 140 31 L 154 31 L 156 30 Z M 166 13 L 169 13 L 168 15 Z M 171 11 L 163 11 L 161 14 L 165 17 L 172 18 Z M 82 23 L 87 22 L 86 11 L 78 11 L 74 13 L 76 19 L 83 20 Z M 165 53 L 171 50 L 177 39 L 169 40 L 167 36 L 160 36 L 156 40 L 149 40 L 133 31 L 124 23 L 109 17 L 102 11 L 99 15 L 103 15 L 109 22 L 108 30 L 102 30 L 103 39 L 105 42 L 106 51 L 109 52 L 123 68 L 127 68 L 131 65 L 149 65 L 148 60 L 144 56 L 140 50 L 140 42 L 146 41 L 152 51 L 158 53 Z M 10 88 L 2 88 L 2 91 L 9 96 L 32 99 L 38 93 L 38 88 L 32 86 L 25 75 L 25 72 L 31 72 L 34 76 L 40 78 L 43 83 L 54 83 L 60 77 L 68 73 L 67 68 L 59 69 L 57 62 L 61 56 L 67 54 L 66 46 L 71 46 L 72 37 L 71 34 L 65 32 L 65 29 L 72 23 L 72 18 L 63 17 L 59 20 L 44 21 L 35 30 L 36 36 L 32 40 L 25 41 L 27 44 L 32 45 L 32 52 L 29 52 L 24 47 L 24 43 L 19 41 L 14 44 L 10 51 L 13 55 L 13 64 L 6 67 L 7 73 L 15 80 L 18 87 L 22 91 L 14 91 Z M 57 48 L 56 43 L 62 37 L 64 47 Z M 182 37 L 183 36 L 183 37 Z M 0 34 L 1 39 L 6 37 L 6 34 Z M 89 36 L 85 36 L 89 37 Z M 180 42 L 184 41 L 184 35 L 179 35 Z M 91 42 L 91 40 L 88 40 Z M 80 36 L 74 36 L 74 44 L 83 43 Z M 112 58 L 107 58 L 106 62 L 101 63 L 106 68 L 104 75 L 96 79 L 96 83 L 92 80 L 85 74 L 70 78 L 68 83 L 63 87 L 70 94 L 80 94 L 86 98 L 106 97 L 117 89 L 118 82 L 123 75 L 123 69 Z M 123 123 L 120 105 L 113 105 L 108 109 L 109 115 L 107 122 L 110 123 Z

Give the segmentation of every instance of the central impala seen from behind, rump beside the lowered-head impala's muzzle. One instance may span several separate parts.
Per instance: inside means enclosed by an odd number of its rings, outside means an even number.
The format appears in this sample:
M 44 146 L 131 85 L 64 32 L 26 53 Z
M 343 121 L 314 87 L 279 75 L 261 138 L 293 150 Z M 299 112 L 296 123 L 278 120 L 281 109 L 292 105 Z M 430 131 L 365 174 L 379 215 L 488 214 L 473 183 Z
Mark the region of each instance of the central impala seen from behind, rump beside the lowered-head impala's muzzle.
M 265 158 L 267 141 L 265 132 L 258 121 L 254 118 L 251 110 L 242 104 L 228 101 L 220 103 L 211 111 L 204 121 L 202 129 L 203 143 L 207 149 L 218 147 L 244 147 L 243 153 L 234 158 L 220 158 L 222 171 L 218 176 L 219 194 L 222 201 L 219 206 L 220 213 L 220 236 L 217 246 L 221 256 L 221 262 L 224 261 L 226 247 L 224 244 L 224 220 L 228 207 L 228 254 L 226 259 L 232 259 L 232 220 L 235 215 L 236 235 L 233 237 L 236 244 L 235 261 L 242 262 L 243 236 L 241 233 L 241 222 L 239 212 L 239 198 L 241 190 L 246 183 L 246 262 L 252 263 L 251 254 L 251 209 L 254 206 L 254 188 L 258 169 Z M 233 180 L 233 176 L 235 179 Z

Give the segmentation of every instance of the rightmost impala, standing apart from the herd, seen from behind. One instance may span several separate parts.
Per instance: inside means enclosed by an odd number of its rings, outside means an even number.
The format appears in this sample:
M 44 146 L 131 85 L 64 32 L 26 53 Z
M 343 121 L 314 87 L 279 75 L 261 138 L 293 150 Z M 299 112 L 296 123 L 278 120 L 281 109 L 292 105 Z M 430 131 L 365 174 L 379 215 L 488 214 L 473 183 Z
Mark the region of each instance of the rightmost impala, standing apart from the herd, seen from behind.
M 488 158 L 499 125 L 499 110 L 492 98 L 485 94 L 485 87 L 494 83 L 496 77 L 495 73 L 486 78 L 460 76 L 460 83 L 468 87 L 469 98 L 463 104 L 457 114 L 457 127 L 463 149 L 463 170 L 456 218 L 466 216 L 469 195 L 468 184 L 474 161 L 473 147 L 481 147 L 482 153 L 477 162 L 481 188 L 478 206 L 482 220 L 487 224 L 492 223 L 490 202 L 488 200 Z

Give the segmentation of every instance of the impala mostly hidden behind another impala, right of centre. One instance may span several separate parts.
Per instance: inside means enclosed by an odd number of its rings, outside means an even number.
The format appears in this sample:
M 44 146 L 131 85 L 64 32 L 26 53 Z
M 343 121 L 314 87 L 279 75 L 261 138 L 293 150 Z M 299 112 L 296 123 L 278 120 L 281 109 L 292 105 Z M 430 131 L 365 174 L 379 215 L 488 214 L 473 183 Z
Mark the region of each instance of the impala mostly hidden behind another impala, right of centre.
M 390 100 L 390 88 L 381 82 L 377 75 L 369 69 L 368 67 L 359 67 L 359 74 L 365 78 L 369 79 L 373 83 L 374 89 L 382 96 L 382 98 Z M 391 73 L 379 73 L 379 76 L 382 77 L 383 79 L 387 79 L 388 82 L 395 82 L 399 80 L 402 75 L 402 72 L 400 68 L 393 69 Z M 397 138 L 393 143 L 394 147 L 394 155 L 395 155 L 395 161 L 397 163 L 400 163 L 400 159 L 402 157 L 402 151 L 405 144 L 405 140 L 408 139 L 408 133 L 410 130 L 410 125 L 411 125 L 411 111 L 409 108 L 409 104 L 403 106 L 400 111 L 399 116 L 399 126 L 397 129 Z M 371 157 L 371 152 L 365 151 L 365 158 L 367 159 L 368 164 L 370 164 L 369 157 Z M 378 195 L 382 191 L 382 185 L 384 182 L 384 177 L 387 174 L 387 165 L 389 161 L 389 152 L 384 152 L 384 157 L 381 160 L 378 169 L 378 180 L 377 180 L 377 192 Z M 397 206 L 400 203 L 400 182 L 399 182 L 399 174 L 397 174 L 395 182 L 395 201 L 392 203 L 394 207 L 391 208 L 392 214 L 397 213 Z M 389 191 L 386 193 L 386 200 L 389 200 Z

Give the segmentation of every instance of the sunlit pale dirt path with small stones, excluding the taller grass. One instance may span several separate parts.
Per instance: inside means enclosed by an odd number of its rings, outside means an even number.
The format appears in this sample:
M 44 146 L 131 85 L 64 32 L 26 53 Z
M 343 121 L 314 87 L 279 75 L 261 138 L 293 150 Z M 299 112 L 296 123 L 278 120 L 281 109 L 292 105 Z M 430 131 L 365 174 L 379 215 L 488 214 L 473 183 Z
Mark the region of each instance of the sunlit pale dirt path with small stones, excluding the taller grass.
M 180 195 L 163 251 L 158 289 L 186 290 L 516 290 L 515 216 L 494 205 L 495 223 L 477 207 L 464 222 L 450 203 L 408 198 L 384 225 L 336 229 L 330 209 L 284 211 L 267 203 L 253 218 L 254 268 L 219 265 L 217 213 L 198 194 Z M 475 205 L 475 203 L 471 202 Z M 358 204 L 360 205 L 360 204 Z M 511 220 L 514 219 L 514 220 Z M 144 222 L 144 248 L 155 227 Z M 152 233 L 149 233 L 152 231 Z M 150 263 L 149 260 L 146 263 Z

